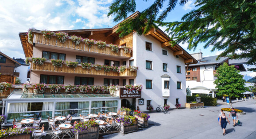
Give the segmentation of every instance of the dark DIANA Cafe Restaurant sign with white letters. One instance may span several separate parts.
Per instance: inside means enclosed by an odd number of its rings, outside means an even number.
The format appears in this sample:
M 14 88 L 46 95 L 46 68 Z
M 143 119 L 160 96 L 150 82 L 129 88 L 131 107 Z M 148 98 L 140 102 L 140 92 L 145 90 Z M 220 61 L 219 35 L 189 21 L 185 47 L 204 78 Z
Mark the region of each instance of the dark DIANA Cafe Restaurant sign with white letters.
M 120 88 L 120 99 L 141 98 L 141 91 Z

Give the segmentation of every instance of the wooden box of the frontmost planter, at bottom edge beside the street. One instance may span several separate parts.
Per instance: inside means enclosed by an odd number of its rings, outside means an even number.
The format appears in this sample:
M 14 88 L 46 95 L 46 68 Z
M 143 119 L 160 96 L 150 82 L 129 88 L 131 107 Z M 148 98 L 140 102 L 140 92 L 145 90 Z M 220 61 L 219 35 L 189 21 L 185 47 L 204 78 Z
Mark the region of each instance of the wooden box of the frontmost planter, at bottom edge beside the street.
M 88 128 L 85 131 L 76 133 L 75 139 L 98 139 L 99 138 L 99 126 Z

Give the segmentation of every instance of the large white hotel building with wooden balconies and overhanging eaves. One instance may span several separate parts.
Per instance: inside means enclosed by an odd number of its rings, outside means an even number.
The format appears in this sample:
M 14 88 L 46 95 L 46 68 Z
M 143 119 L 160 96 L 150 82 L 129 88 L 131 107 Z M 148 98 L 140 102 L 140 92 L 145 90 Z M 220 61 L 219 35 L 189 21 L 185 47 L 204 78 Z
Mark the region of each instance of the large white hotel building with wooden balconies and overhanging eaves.
M 137 14 L 138 12 L 128 18 L 132 18 Z M 52 110 L 50 115 L 53 117 L 58 114 L 63 114 L 63 110 L 68 113 L 71 113 L 71 111 L 79 111 L 79 107 L 81 106 L 80 102 L 88 102 L 88 110 L 82 110 L 82 113 L 97 113 L 102 110 L 117 111 L 117 108 L 119 109 L 121 106 L 130 107 L 131 105 L 139 106 L 141 111 L 147 111 L 146 107 L 149 104 L 151 104 L 155 110 L 158 105 L 163 106 L 164 103 L 169 104 L 171 108 L 175 108 L 177 102 L 184 107 L 186 103 L 185 64 L 197 63 L 197 60 L 178 44 L 171 47 L 169 43 L 171 41 L 170 38 L 160 29 L 151 29 L 149 33 L 141 36 L 134 32 L 123 38 L 118 37 L 119 34 L 116 33 L 116 29 L 118 29 L 118 25 L 108 29 L 77 29 L 55 32 L 65 32 L 70 36 L 77 35 L 89 39 L 102 40 L 106 41 L 107 44 L 125 45 L 133 49 L 131 54 L 124 53 L 124 48 L 120 48 L 118 53 L 111 51 L 109 46 L 105 49 L 98 49 L 97 45 L 93 45 L 89 48 L 84 42 L 75 46 L 70 39 L 64 44 L 61 44 L 56 40 L 56 37 L 53 37 L 51 40 L 45 39 L 43 34 L 38 30 L 32 30 L 33 44 L 29 44 L 27 41 L 27 33 L 19 33 L 26 57 L 44 57 L 46 59 L 63 59 L 66 61 L 77 61 L 79 63 L 91 62 L 101 65 L 127 66 L 127 69 L 124 70 L 123 73 L 105 73 L 103 70 L 96 71 L 94 68 L 91 68 L 88 72 L 88 70 L 81 68 L 81 64 L 78 64 L 78 66 L 73 69 L 66 66 L 54 68 L 50 61 L 45 62 L 43 66 L 31 63 L 30 83 L 107 86 L 141 84 L 143 86 L 141 96 L 128 97 L 128 95 L 112 95 L 110 97 L 104 97 L 105 94 L 89 94 L 87 97 L 82 97 L 85 95 L 74 94 L 72 98 L 66 98 L 67 95 L 65 95 L 65 98 L 62 98 L 62 96 L 64 96 L 62 95 L 60 99 L 58 97 L 61 94 L 53 96 L 50 94 L 35 94 L 36 96 L 32 96 L 29 93 L 22 94 L 22 92 L 17 92 L 16 98 L 10 96 L 5 100 L 6 105 L 8 105 L 9 102 L 15 101 L 41 101 L 43 103 L 40 105 L 43 105 L 43 108 Z M 138 66 L 139 70 L 132 72 L 128 66 Z M 17 96 L 20 96 L 19 98 L 21 99 L 17 99 Z M 78 96 L 80 96 L 81 99 L 77 98 Z M 31 97 L 32 99 L 29 99 Z M 36 99 L 35 97 L 42 99 Z M 33 98 L 35 100 L 33 100 Z M 54 104 L 49 104 L 49 101 Z M 109 101 L 112 102 L 109 103 Z M 70 107 L 63 107 L 60 113 L 59 111 L 56 112 L 59 110 L 57 103 L 60 102 L 63 102 L 63 104 L 61 104 L 62 106 L 66 105 L 67 102 Z M 108 107 L 107 104 L 110 107 Z M 50 109 L 48 109 L 49 105 L 51 107 Z M 52 106 L 56 107 L 52 108 Z M 7 110 L 9 110 L 9 108 L 7 108 Z M 33 113 L 27 112 L 28 110 L 26 110 L 24 109 L 22 112 Z M 37 112 L 39 111 L 42 113 L 45 112 L 42 111 L 42 107 L 40 110 L 37 110 Z M 8 113 L 15 115 L 14 111 L 6 112 L 7 115 Z M 65 113 L 63 115 L 65 115 Z M 74 114 L 73 117 L 75 118 L 76 116 L 77 115 Z M 10 120 L 10 118 L 8 119 Z

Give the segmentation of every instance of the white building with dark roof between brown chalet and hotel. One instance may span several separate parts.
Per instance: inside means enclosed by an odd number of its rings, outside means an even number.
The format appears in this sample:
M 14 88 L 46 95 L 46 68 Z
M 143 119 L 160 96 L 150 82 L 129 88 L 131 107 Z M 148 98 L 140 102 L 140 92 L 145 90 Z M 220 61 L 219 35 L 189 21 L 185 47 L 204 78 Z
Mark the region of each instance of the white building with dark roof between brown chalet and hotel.
M 22 58 L 15 59 L 14 57 L 13 59 L 21 64 L 21 66 L 16 67 L 14 71 L 19 73 L 19 79 L 23 84 L 27 81 L 27 72 L 28 72 L 29 65 L 26 64 L 25 59 L 22 59 Z

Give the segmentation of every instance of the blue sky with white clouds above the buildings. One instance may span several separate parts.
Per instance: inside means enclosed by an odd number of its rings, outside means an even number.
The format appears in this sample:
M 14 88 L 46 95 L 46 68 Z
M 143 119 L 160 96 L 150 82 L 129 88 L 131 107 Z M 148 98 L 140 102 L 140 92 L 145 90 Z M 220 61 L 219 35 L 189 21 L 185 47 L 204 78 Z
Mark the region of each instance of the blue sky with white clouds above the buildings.
M 20 32 L 27 29 L 67 30 L 111 28 L 116 25 L 113 17 L 107 18 L 108 7 L 113 0 L 3 0 L 0 4 L 0 51 L 10 57 L 25 58 L 19 40 Z M 194 9 L 194 1 L 188 0 L 184 6 L 178 6 L 168 15 L 165 22 L 180 21 L 182 15 Z M 143 11 L 153 0 L 137 0 L 137 11 Z M 164 4 L 164 8 L 167 3 Z M 163 8 L 163 10 L 164 10 Z M 164 27 L 160 27 L 164 30 Z M 187 45 L 180 44 L 186 51 Z M 210 52 L 202 48 L 195 53 L 203 56 L 218 55 L 221 51 Z M 254 74 L 246 72 L 247 74 Z

